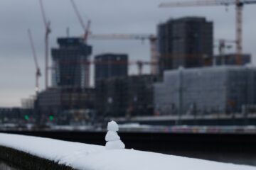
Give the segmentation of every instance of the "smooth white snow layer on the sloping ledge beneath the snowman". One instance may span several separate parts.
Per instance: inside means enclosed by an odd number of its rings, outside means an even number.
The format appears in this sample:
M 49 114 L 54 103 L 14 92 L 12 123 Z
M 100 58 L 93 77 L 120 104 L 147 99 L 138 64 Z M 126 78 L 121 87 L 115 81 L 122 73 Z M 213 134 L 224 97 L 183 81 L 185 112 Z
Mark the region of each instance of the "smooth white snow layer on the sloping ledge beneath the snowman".
M 210 162 L 133 149 L 107 150 L 97 145 L 23 135 L 0 133 L 0 145 L 80 170 L 256 170 L 254 166 Z

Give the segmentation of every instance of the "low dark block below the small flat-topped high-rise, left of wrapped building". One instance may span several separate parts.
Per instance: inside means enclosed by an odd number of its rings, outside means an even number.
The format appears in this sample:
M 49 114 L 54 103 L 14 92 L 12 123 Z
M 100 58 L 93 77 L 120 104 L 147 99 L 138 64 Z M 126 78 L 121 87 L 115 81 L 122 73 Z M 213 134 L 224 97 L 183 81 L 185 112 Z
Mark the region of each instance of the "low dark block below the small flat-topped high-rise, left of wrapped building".
M 153 115 L 153 84 L 151 75 L 115 77 L 97 81 L 96 111 L 98 118 Z

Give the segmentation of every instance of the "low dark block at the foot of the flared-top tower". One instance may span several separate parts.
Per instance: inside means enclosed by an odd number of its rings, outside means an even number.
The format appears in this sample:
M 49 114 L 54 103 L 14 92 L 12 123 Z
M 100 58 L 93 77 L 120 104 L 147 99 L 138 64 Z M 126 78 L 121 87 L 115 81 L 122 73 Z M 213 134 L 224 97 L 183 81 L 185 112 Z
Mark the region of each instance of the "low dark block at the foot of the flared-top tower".
M 94 89 L 49 88 L 39 93 L 36 101 L 36 110 L 41 115 L 41 121 L 47 121 L 49 116 L 54 116 L 55 123 L 70 123 L 75 115 L 85 115 L 94 108 Z

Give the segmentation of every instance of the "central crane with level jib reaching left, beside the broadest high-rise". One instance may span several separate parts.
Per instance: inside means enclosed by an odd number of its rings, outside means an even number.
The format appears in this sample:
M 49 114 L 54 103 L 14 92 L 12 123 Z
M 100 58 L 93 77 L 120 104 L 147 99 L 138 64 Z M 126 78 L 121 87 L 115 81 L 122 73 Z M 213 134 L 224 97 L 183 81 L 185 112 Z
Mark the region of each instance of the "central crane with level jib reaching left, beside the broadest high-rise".
M 150 62 L 138 62 L 138 66 L 142 68 L 143 64 L 151 64 L 151 74 L 157 74 L 157 62 L 158 54 L 156 51 L 156 36 L 151 34 L 101 34 L 101 35 L 89 35 L 88 38 L 93 40 L 149 40 L 150 42 Z M 140 70 L 140 69 L 139 69 Z M 140 71 L 139 71 L 140 72 Z

